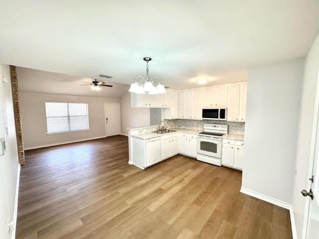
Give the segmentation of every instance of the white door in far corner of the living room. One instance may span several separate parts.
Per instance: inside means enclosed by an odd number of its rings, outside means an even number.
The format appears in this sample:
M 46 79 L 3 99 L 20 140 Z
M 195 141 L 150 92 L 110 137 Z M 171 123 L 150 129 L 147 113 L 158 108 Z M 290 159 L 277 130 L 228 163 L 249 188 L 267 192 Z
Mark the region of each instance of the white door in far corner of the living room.
M 120 134 L 120 104 L 104 104 L 104 112 L 106 136 Z

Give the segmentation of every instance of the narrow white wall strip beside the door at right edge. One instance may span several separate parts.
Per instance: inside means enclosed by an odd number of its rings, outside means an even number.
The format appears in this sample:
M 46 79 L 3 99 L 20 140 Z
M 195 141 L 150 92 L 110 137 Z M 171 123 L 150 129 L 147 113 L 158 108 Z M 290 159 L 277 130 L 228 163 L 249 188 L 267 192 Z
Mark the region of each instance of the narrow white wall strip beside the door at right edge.
M 300 193 L 307 189 L 310 143 L 312 137 L 316 90 L 319 67 L 319 35 L 312 45 L 305 61 L 302 87 L 300 121 L 297 144 L 296 175 L 293 179 L 292 206 L 298 238 L 301 238 L 306 199 Z

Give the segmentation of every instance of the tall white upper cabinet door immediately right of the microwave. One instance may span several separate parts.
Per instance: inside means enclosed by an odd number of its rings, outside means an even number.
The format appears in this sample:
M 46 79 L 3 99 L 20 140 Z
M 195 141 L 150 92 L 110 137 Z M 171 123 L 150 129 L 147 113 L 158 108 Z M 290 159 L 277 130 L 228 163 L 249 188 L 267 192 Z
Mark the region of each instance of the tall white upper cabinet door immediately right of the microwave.
M 239 119 L 239 98 L 240 98 L 240 85 L 229 86 L 228 87 L 228 106 L 227 106 L 228 121 L 238 121 Z

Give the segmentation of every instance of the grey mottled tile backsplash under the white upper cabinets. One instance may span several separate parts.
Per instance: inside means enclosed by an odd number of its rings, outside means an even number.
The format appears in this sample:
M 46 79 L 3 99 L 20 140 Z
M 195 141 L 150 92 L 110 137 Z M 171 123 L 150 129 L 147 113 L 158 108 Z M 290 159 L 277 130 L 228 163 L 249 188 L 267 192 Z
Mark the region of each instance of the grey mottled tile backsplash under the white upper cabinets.
M 221 120 L 165 119 L 167 127 L 203 128 L 204 123 L 228 124 L 228 133 L 244 134 L 245 122 L 229 122 Z

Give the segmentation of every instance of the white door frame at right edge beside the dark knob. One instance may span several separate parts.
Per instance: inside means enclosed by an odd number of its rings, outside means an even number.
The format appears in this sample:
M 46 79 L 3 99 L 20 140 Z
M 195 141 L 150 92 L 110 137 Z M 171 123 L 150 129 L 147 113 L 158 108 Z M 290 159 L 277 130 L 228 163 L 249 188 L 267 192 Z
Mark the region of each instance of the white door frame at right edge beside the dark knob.
M 311 177 L 313 175 L 316 144 L 317 144 L 316 139 L 317 139 L 318 130 L 319 130 L 319 65 L 318 65 L 318 70 L 317 70 L 317 89 L 316 89 L 316 98 L 315 98 L 313 129 L 312 129 L 312 136 L 311 136 L 311 143 L 310 143 L 310 158 L 309 158 L 309 165 L 308 165 L 308 177 Z M 313 183 L 307 179 L 307 188 L 306 188 L 307 191 L 311 189 L 312 184 Z M 300 189 L 300 190 L 302 190 L 302 189 Z M 311 202 L 310 197 L 307 197 L 306 203 L 305 203 L 305 211 L 304 211 L 302 239 L 306 239 L 306 237 L 307 237 L 310 202 Z

